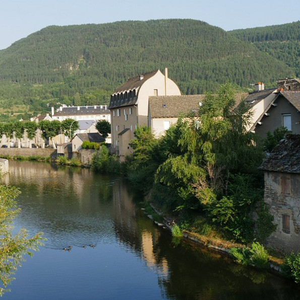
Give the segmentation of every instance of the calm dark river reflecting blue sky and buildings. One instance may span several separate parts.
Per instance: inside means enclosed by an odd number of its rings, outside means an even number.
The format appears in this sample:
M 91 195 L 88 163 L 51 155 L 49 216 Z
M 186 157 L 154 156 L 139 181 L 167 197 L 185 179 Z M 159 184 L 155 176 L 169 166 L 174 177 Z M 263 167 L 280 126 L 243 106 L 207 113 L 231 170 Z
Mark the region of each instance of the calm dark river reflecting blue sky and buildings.
M 16 230 L 47 238 L 4 299 L 300 299 L 279 277 L 172 241 L 122 178 L 10 161 L 3 182 L 22 191 Z

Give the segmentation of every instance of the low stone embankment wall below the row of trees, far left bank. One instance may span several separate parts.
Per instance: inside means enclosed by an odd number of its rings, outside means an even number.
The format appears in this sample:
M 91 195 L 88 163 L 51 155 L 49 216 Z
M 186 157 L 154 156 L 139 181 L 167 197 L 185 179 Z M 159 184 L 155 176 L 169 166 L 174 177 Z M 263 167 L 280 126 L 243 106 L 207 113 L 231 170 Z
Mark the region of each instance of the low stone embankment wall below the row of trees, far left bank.
M 0 148 L 0 155 L 9 156 L 50 156 L 56 157 L 56 149 L 42 149 L 42 148 Z

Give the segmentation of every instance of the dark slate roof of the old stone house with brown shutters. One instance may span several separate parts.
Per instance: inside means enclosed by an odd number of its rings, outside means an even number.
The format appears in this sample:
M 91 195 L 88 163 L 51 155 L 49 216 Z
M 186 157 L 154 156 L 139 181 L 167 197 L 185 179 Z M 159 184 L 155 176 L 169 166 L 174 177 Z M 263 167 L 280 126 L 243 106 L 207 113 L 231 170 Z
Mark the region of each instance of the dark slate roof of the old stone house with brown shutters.
M 300 173 L 300 135 L 287 135 L 263 161 L 259 169 Z

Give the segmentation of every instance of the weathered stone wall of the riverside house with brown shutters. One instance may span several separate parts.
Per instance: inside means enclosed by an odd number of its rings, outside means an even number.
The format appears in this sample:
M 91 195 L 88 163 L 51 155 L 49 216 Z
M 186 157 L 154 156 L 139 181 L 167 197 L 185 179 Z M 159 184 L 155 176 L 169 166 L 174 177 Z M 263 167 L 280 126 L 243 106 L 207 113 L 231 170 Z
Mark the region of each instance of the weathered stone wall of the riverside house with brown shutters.
M 282 178 L 287 178 L 288 188 L 283 188 Z M 285 253 L 300 251 L 299 197 L 300 174 L 265 171 L 264 199 L 277 225 L 266 240 L 268 246 Z M 289 218 L 289 232 L 284 232 L 283 215 Z

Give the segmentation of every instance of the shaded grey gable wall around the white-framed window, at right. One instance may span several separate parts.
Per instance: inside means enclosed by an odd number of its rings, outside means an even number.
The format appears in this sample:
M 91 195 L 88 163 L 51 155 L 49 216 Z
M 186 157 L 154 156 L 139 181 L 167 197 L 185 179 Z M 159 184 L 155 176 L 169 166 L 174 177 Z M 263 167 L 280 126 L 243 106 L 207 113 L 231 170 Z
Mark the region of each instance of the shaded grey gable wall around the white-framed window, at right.
M 300 113 L 296 108 L 290 104 L 283 96 L 279 96 L 274 102 L 277 106 L 271 106 L 268 110 L 269 116 L 264 116 L 261 119 L 262 125 L 257 125 L 255 132 L 262 138 L 267 137 L 267 132 L 273 131 L 280 126 L 283 126 L 283 114 L 291 114 L 291 132 L 292 134 L 300 134 L 300 124 L 296 124 L 300 121 Z

